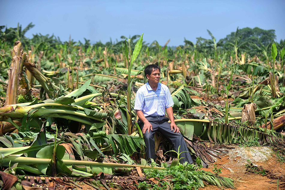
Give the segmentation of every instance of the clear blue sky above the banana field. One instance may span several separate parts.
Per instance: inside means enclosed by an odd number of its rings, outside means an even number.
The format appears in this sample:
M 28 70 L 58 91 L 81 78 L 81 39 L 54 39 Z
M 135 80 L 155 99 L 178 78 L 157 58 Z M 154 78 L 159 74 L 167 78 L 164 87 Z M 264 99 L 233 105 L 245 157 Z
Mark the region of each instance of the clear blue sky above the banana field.
M 184 37 L 196 43 L 196 37 L 219 40 L 237 27 L 275 29 L 277 42 L 285 39 L 284 0 L 213 0 L 213 1 L 0 1 L 0 25 L 16 27 L 19 22 L 35 27 L 32 34 L 59 36 L 106 43 L 120 41 L 125 35 L 141 35 L 147 43 L 157 40 L 169 46 L 184 44 Z

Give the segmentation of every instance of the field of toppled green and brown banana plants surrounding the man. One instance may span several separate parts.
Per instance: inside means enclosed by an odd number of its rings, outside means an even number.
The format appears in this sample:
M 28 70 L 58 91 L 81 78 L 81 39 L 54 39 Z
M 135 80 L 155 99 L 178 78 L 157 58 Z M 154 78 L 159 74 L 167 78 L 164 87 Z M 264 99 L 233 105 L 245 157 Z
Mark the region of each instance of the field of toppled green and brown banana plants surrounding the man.
M 285 162 L 285 40 L 274 30 L 219 41 L 208 30 L 168 47 L 143 34 L 25 37 L 33 26 L 0 26 L 0 189 L 234 189 L 239 180 L 205 169 L 229 149 L 267 146 Z M 133 108 L 149 64 L 161 67 L 194 164 L 180 164 L 160 133 L 147 162 Z M 284 176 L 266 175 L 285 188 Z

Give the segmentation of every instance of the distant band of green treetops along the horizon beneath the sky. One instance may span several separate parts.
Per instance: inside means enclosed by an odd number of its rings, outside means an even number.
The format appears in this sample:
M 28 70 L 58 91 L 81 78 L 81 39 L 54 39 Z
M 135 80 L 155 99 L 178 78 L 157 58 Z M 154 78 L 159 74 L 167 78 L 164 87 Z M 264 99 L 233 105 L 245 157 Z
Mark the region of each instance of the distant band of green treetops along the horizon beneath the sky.
M 81 41 L 73 41 L 73 39 L 69 39 L 68 41 L 61 41 L 59 37 L 55 35 L 42 35 L 41 33 L 33 34 L 32 38 L 27 38 L 25 36 L 26 32 L 34 27 L 35 25 L 29 23 L 24 29 L 22 29 L 22 25 L 17 25 L 16 28 L 7 28 L 5 26 L 0 26 L 0 41 L 1 49 L 11 48 L 13 43 L 17 40 L 21 41 L 23 46 L 26 49 L 31 49 L 33 47 L 34 51 L 50 51 L 62 49 L 65 45 L 68 47 L 79 46 L 84 50 L 88 48 L 108 48 L 112 49 L 114 53 L 122 53 L 124 50 L 124 41 L 127 41 L 128 48 L 131 51 L 134 49 L 134 45 L 136 44 L 140 35 L 134 36 L 121 36 L 121 40 L 117 40 L 115 42 L 110 39 L 109 42 L 103 44 L 101 41 L 96 42 L 95 44 L 91 44 L 90 40 L 84 38 L 84 42 Z M 231 54 L 235 54 L 237 57 L 239 54 L 247 53 L 250 56 L 261 56 L 268 59 L 268 55 L 270 54 L 270 47 L 272 43 L 277 45 L 277 49 L 281 50 L 285 47 L 285 40 L 280 40 L 280 42 L 276 42 L 275 30 L 264 30 L 258 27 L 253 29 L 247 27 L 243 29 L 236 29 L 235 32 L 231 32 L 229 35 L 226 35 L 225 38 L 216 40 L 214 35 L 207 30 L 210 39 L 198 37 L 196 38 L 196 43 L 187 40 L 184 38 L 184 45 L 180 45 L 178 47 L 168 47 L 171 51 L 175 51 L 175 49 L 183 49 L 184 51 L 196 51 L 199 54 L 204 54 L 206 57 L 212 56 L 217 57 L 218 54 L 224 54 L 225 52 L 231 52 Z M 166 45 L 165 45 L 166 46 Z M 175 48 L 175 49 L 174 49 Z M 151 51 L 150 54 L 158 54 L 161 52 L 162 47 L 157 41 L 153 41 L 152 43 L 143 42 L 143 49 L 147 51 Z

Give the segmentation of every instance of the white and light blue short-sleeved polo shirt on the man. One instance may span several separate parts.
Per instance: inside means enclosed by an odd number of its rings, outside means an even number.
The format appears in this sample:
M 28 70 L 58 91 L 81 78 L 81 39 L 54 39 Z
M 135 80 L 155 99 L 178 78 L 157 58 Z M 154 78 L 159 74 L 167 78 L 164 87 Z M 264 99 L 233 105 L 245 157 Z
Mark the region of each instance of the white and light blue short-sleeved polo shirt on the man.
M 135 110 L 141 110 L 143 115 L 164 116 L 165 109 L 173 106 L 173 100 L 168 87 L 158 83 L 156 90 L 152 90 L 149 82 L 139 88 L 135 99 Z

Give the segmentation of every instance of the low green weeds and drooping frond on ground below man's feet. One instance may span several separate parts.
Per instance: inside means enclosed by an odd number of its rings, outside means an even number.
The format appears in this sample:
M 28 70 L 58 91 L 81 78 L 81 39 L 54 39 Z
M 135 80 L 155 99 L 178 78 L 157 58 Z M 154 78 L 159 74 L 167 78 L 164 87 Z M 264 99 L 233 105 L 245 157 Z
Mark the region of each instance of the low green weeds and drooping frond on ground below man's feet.
M 193 164 L 178 164 L 173 167 L 166 167 L 166 170 L 148 169 L 144 170 L 149 182 L 139 182 L 138 189 L 198 189 L 203 187 L 203 181 L 209 184 L 234 188 L 232 179 L 218 176 Z

